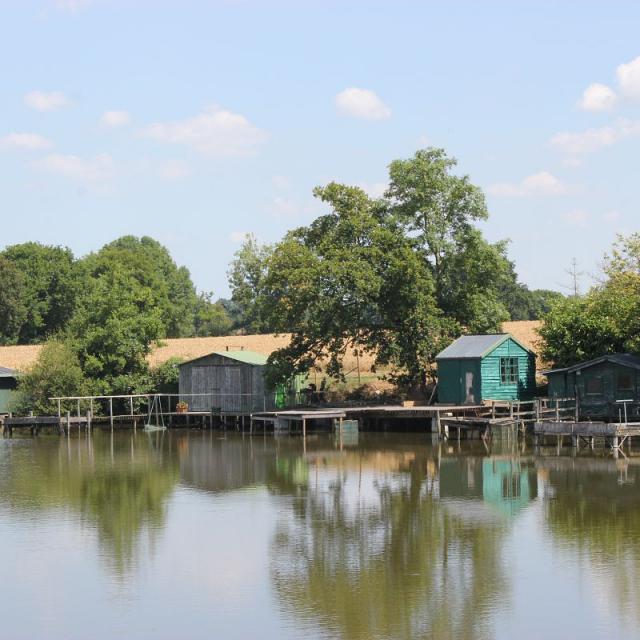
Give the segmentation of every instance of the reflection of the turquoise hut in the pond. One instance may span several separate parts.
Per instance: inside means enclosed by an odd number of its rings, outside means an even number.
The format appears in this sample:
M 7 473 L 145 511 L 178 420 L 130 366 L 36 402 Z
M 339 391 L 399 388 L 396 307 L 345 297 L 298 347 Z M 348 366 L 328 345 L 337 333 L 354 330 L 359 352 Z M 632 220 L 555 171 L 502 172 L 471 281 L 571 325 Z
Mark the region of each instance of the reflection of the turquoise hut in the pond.
M 440 463 L 439 496 L 466 517 L 514 516 L 538 495 L 532 464 L 507 457 L 449 457 Z M 468 501 L 476 500 L 470 509 Z M 464 504 L 462 504 L 464 501 Z

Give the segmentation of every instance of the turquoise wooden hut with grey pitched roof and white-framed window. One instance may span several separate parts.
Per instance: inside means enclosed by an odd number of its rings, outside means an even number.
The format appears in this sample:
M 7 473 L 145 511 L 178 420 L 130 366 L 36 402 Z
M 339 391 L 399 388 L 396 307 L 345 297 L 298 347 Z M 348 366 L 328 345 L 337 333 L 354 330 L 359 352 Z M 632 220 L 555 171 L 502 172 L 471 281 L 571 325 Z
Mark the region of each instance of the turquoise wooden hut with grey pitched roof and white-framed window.
M 438 402 L 530 400 L 536 392 L 536 354 L 511 334 L 462 336 L 436 356 Z

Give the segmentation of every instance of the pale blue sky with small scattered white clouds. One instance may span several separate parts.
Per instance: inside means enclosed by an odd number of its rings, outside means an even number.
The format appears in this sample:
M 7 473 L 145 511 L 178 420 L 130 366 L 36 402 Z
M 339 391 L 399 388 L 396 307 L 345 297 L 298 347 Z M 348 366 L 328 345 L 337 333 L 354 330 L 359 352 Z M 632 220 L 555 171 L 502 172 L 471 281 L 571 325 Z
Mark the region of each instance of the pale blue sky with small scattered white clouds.
M 640 3 L 0 0 L 0 248 L 150 235 L 228 295 L 331 180 L 443 147 L 532 288 L 639 230 Z

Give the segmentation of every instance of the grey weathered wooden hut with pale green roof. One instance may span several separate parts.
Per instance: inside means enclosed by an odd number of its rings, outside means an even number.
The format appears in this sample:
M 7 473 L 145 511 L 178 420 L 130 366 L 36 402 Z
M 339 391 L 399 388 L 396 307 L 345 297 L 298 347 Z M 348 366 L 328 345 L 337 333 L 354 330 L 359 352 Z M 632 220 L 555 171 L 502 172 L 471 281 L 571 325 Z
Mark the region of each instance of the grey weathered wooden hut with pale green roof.
M 180 398 L 190 411 L 234 415 L 274 408 L 264 384 L 267 357 L 254 351 L 219 351 L 180 365 Z

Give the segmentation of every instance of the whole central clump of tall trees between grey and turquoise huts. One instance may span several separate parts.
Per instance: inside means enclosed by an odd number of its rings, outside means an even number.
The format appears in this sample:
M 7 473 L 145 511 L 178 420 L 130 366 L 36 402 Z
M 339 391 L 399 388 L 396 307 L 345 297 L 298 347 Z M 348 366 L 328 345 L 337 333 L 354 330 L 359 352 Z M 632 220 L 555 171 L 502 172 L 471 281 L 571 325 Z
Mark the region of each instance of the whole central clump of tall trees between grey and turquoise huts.
M 516 279 L 506 243 L 488 243 L 473 226 L 487 217 L 484 196 L 452 173 L 455 164 L 441 149 L 394 161 L 385 198 L 375 201 L 355 187 L 317 188 L 329 214 L 264 255 L 245 243 L 234 300 L 255 307 L 264 326 L 293 333 L 270 359 L 272 384 L 323 357 L 340 378 L 355 349 L 396 381 L 425 388 L 453 337 L 497 331 L 509 318 L 502 292 Z

